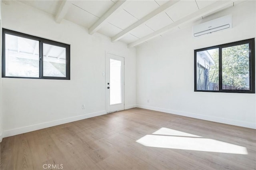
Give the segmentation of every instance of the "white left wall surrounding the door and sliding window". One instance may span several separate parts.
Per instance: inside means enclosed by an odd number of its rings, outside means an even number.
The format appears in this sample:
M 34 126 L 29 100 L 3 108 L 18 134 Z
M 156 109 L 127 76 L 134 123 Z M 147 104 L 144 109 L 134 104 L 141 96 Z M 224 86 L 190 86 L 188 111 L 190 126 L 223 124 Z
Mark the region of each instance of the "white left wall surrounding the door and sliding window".
M 2 4 L 2 26 L 70 44 L 70 80 L 2 78 L 3 136 L 106 113 L 105 53 L 125 57 L 125 109 L 136 106 L 136 49 L 20 2 Z M 82 109 L 82 104 L 86 109 Z

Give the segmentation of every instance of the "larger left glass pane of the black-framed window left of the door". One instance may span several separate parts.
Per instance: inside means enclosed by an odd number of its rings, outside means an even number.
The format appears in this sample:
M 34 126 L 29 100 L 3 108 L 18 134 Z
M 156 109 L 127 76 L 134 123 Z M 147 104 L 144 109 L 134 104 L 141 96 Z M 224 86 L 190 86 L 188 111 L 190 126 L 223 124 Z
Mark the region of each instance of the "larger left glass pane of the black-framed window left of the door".
M 39 42 L 5 34 L 5 76 L 39 77 Z

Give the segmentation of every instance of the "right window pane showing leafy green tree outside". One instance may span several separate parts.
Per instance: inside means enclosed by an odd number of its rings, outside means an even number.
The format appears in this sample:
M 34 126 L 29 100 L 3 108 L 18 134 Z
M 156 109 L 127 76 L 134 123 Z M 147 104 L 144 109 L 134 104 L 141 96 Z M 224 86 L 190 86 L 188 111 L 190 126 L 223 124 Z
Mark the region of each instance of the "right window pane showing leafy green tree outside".
M 222 89 L 250 90 L 249 44 L 222 48 Z

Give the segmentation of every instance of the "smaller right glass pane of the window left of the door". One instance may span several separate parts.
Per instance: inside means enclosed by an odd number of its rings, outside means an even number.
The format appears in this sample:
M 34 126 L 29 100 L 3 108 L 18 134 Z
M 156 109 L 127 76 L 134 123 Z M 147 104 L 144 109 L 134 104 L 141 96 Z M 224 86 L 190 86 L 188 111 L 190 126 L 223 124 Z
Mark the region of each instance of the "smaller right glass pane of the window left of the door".
M 43 43 L 43 75 L 66 77 L 66 48 Z

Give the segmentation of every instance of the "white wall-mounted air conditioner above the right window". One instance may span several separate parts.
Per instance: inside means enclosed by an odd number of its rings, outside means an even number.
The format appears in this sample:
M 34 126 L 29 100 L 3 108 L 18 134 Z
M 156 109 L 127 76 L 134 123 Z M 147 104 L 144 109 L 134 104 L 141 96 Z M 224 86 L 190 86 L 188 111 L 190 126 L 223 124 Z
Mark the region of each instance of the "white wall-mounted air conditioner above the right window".
M 232 15 L 223 16 L 202 24 L 193 26 L 193 34 L 195 37 L 212 32 L 232 28 Z

